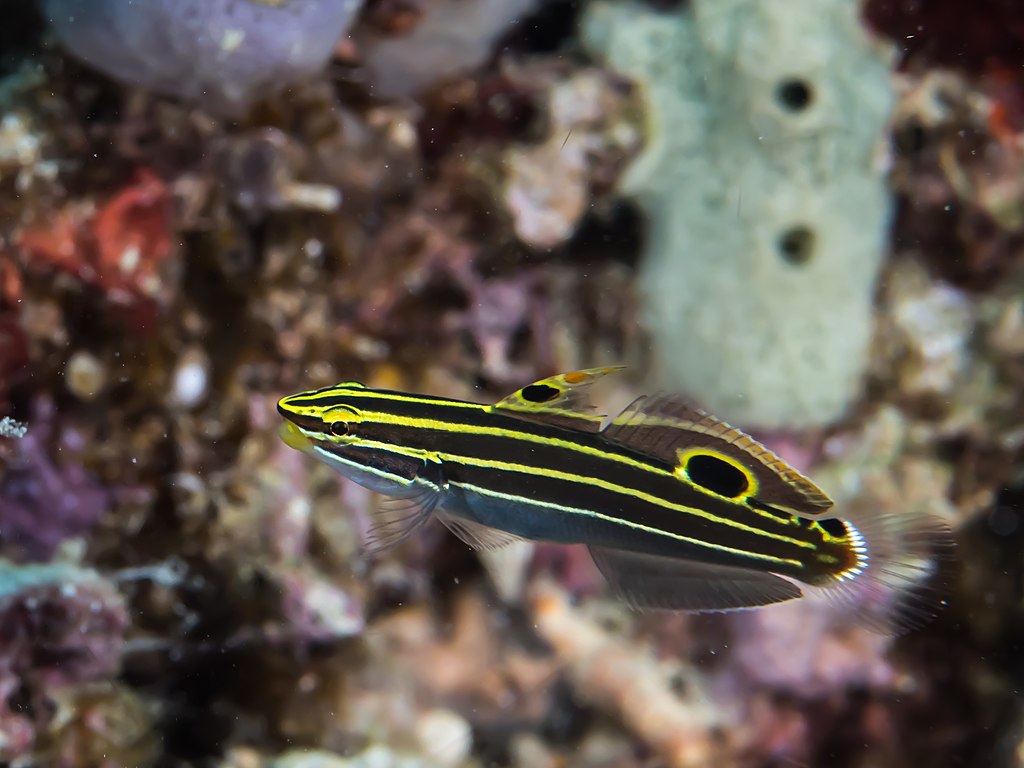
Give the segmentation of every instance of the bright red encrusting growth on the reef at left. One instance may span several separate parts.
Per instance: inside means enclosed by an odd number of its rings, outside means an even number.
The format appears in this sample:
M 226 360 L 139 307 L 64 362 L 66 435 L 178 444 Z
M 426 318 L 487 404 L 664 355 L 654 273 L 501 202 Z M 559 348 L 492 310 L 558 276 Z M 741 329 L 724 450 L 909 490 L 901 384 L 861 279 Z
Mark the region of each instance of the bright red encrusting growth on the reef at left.
M 165 294 L 169 205 L 167 185 L 143 170 L 94 213 L 68 206 L 45 227 L 23 231 L 18 245 L 31 267 L 100 291 L 123 325 L 144 331 L 155 325 Z

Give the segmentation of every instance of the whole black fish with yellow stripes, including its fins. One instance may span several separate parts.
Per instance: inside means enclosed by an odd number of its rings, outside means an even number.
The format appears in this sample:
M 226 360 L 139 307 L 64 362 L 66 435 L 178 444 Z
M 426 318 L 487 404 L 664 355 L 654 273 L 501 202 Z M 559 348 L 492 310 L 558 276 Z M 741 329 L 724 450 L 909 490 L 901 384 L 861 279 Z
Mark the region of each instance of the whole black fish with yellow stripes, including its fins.
M 676 394 L 608 419 L 574 371 L 477 403 L 355 381 L 283 397 L 281 436 L 391 497 L 369 554 L 438 519 L 474 549 L 585 545 L 638 609 L 727 611 L 816 595 L 898 634 L 943 601 L 927 585 L 951 546 L 920 514 L 850 512 L 750 435 Z

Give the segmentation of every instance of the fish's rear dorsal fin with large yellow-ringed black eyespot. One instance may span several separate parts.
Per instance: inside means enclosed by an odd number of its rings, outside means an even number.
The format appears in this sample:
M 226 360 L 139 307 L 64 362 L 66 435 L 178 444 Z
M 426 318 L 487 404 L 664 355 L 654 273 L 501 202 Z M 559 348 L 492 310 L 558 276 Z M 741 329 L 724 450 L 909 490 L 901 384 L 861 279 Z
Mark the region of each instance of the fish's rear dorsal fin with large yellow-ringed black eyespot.
M 733 473 L 736 477 L 753 477 L 757 487 L 748 494 L 750 498 L 783 512 L 817 515 L 833 506 L 824 492 L 753 437 L 676 395 L 638 397 L 608 423 L 601 435 L 679 465 L 677 474 L 681 479 L 690 480 L 693 473 L 688 472 L 688 467 L 696 470 L 697 465 L 687 462 L 701 457 L 699 471 L 710 482 L 695 477 L 693 481 L 713 490 L 717 483 L 732 484 L 736 479 L 730 476 Z

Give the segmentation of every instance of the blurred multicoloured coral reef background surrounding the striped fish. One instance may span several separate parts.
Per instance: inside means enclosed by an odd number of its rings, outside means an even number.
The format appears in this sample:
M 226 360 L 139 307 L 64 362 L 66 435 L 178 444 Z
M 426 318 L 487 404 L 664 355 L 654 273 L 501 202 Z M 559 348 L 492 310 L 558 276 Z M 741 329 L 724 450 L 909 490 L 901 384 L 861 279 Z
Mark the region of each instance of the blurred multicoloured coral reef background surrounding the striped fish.
M 1018 3 L 8 5 L 0 763 L 1024 764 Z M 276 437 L 620 362 L 609 410 L 685 388 L 947 520 L 936 621 L 370 560 L 379 500 Z

